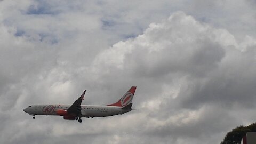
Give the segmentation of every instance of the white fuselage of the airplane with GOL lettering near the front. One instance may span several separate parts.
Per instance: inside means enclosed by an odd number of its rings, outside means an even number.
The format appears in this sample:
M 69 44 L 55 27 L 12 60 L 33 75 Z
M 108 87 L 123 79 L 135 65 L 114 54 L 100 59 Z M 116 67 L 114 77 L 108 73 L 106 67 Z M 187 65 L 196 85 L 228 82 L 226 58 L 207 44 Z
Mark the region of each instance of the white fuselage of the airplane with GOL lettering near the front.
M 57 115 L 59 109 L 67 110 L 70 105 L 32 105 L 23 111 L 30 115 Z M 99 105 L 81 105 L 80 117 L 107 117 L 113 115 L 124 114 L 131 109 L 122 109 L 116 106 L 99 106 Z

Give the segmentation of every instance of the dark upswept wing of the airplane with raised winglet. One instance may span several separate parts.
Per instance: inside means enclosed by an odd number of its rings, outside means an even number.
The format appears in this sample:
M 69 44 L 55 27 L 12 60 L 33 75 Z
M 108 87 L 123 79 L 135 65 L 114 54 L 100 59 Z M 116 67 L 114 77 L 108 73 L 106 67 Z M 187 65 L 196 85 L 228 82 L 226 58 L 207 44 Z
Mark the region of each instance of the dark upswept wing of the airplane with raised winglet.
M 69 114 L 74 114 L 74 115 L 82 115 L 81 114 L 81 103 L 84 100 L 84 94 L 86 90 L 82 93 L 82 95 L 67 109 Z

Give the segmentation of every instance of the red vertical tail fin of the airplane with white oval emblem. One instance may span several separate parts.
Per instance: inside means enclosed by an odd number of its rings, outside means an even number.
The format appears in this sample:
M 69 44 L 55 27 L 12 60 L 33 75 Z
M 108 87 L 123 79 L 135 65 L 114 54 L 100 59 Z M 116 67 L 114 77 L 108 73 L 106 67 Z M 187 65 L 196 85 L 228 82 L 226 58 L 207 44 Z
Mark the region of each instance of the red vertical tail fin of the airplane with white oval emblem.
M 132 103 L 135 90 L 136 90 L 136 86 L 132 86 L 131 89 L 127 91 L 121 99 L 119 99 L 116 103 L 112 103 L 108 106 L 125 107 L 129 105 L 130 103 Z

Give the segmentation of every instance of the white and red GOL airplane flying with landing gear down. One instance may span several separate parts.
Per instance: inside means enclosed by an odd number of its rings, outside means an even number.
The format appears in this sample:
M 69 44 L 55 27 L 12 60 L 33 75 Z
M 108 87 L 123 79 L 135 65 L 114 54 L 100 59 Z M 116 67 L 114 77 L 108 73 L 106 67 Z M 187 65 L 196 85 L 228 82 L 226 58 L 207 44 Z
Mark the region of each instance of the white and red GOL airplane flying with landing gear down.
M 33 119 L 35 119 L 35 115 L 57 115 L 63 116 L 63 119 L 66 120 L 78 120 L 79 123 L 82 123 L 81 117 L 107 117 L 122 115 L 131 110 L 136 110 L 132 109 L 132 99 L 135 90 L 136 86 L 132 86 L 121 99 L 107 106 L 81 105 L 84 100 L 85 90 L 73 105 L 31 105 L 23 109 L 23 111 L 32 115 Z

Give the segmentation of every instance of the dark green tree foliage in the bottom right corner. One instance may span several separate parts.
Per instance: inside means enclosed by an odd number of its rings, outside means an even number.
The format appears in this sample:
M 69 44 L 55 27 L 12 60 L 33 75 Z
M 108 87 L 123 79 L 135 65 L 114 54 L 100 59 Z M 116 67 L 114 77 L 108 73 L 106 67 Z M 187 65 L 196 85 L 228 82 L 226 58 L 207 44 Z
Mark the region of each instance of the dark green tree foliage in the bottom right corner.
M 249 126 L 238 126 L 231 132 L 228 132 L 224 140 L 220 144 L 237 144 L 240 143 L 242 138 L 247 132 L 256 132 L 256 123 Z

